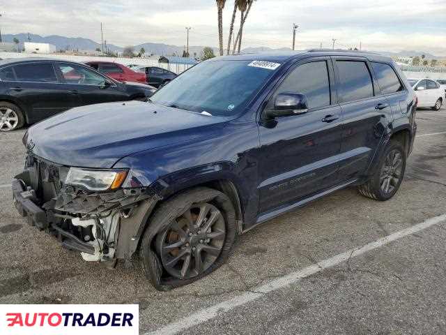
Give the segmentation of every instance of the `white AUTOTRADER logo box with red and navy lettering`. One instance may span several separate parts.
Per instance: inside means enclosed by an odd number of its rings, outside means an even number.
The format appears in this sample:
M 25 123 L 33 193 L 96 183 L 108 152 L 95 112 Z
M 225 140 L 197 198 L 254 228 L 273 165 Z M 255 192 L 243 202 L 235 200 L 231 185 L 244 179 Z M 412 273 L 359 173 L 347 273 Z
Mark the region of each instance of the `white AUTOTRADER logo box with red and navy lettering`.
M 138 305 L 0 305 L 0 311 L 0 334 L 139 334 Z

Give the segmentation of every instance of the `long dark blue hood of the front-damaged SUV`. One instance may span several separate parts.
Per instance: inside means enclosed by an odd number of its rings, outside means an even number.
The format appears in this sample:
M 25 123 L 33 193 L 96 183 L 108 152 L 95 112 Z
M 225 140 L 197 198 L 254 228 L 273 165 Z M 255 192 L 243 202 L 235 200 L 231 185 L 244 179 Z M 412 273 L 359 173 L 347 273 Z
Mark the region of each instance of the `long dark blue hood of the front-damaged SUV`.
M 130 101 L 77 107 L 35 124 L 26 147 L 63 165 L 112 168 L 137 151 L 209 138 L 226 119 Z

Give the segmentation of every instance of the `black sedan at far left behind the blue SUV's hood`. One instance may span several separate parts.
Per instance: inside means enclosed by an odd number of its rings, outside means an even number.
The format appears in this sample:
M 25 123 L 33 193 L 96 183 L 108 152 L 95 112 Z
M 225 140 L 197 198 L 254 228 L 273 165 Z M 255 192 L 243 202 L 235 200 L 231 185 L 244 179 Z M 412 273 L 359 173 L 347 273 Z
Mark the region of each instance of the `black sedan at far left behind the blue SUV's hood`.
M 145 100 L 146 84 L 122 84 L 85 66 L 55 59 L 0 61 L 0 131 L 12 131 L 72 107 Z

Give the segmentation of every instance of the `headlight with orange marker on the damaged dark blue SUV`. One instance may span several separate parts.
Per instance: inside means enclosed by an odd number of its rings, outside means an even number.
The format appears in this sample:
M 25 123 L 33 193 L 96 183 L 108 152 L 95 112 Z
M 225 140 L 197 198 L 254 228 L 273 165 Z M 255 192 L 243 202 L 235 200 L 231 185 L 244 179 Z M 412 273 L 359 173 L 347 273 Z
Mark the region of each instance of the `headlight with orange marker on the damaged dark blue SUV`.
M 70 168 L 65 184 L 78 185 L 90 191 L 114 190 L 123 184 L 127 171 L 125 170 L 84 170 Z

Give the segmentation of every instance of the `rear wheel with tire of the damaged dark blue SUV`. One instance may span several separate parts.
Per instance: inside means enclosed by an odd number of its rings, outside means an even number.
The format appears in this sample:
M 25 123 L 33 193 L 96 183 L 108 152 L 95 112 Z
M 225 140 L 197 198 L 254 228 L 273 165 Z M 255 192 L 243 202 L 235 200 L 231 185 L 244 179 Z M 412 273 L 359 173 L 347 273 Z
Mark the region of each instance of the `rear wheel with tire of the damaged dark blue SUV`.
M 365 184 L 358 186 L 358 191 L 367 198 L 378 201 L 389 200 L 397 193 L 405 170 L 406 151 L 400 142 L 391 140 L 383 156 L 380 157 L 375 174 Z

